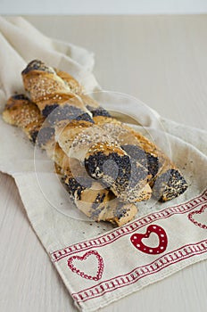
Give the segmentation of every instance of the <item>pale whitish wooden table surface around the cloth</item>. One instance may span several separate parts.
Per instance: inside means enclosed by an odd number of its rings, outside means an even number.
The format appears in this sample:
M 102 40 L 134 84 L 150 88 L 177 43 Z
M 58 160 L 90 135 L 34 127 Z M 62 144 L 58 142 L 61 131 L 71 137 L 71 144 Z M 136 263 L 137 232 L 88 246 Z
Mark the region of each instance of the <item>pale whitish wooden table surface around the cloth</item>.
M 95 52 L 95 77 L 104 89 L 207 130 L 207 15 L 26 18 L 50 37 Z M 77 311 L 29 226 L 12 177 L 0 173 L 0 190 L 0 311 Z M 206 293 L 203 261 L 101 311 L 204 312 Z

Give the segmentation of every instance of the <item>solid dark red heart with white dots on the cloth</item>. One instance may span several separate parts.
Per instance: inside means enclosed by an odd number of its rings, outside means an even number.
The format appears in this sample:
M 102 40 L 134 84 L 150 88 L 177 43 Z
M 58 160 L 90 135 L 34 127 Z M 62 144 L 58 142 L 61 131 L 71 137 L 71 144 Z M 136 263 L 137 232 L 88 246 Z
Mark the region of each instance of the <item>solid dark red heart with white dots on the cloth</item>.
M 159 245 L 157 247 L 149 247 L 142 242 L 142 239 L 149 238 L 151 233 L 155 233 L 158 235 Z M 166 232 L 161 226 L 156 225 L 148 226 L 145 234 L 131 235 L 130 240 L 133 243 L 133 245 L 137 248 L 137 250 L 149 253 L 151 255 L 163 252 L 164 250 L 166 250 L 168 245 L 168 237 Z

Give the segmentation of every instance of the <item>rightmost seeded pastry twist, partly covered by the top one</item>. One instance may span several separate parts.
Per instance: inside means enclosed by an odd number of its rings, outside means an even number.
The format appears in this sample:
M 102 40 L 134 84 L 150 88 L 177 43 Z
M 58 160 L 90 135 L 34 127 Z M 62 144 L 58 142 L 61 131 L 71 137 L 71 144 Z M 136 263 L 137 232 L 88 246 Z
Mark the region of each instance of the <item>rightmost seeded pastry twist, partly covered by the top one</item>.
M 75 85 L 72 92 L 79 94 L 87 110 L 92 113 L 95 125 L 110 133 L 112 138 L 118 141 L 122 150 L 127 152 L 131 159 L 137 160 L 148 169 L 148 182 L 153 189 L 155 198 L 159 201 L 170 201 L 186 191 L 188 185 L 185 177 L 158 146 L 144 135 L 137 133 L 133 128 L 112 118 L 109 111 L 106 111 L 93 98 L 84 94 L 84 89 L 79 85 L 79 82 L 77 80 L 74 82 L 74 78 L 71 78 L 66 72 L 57 71 L 57 74 L 68 86 L 71 84 Z M 88 159 L 91 159 L 91 157 L 91 155 L 87 155 Z M 93 176 L 95 168 L 91 168 L 91 170 Z

